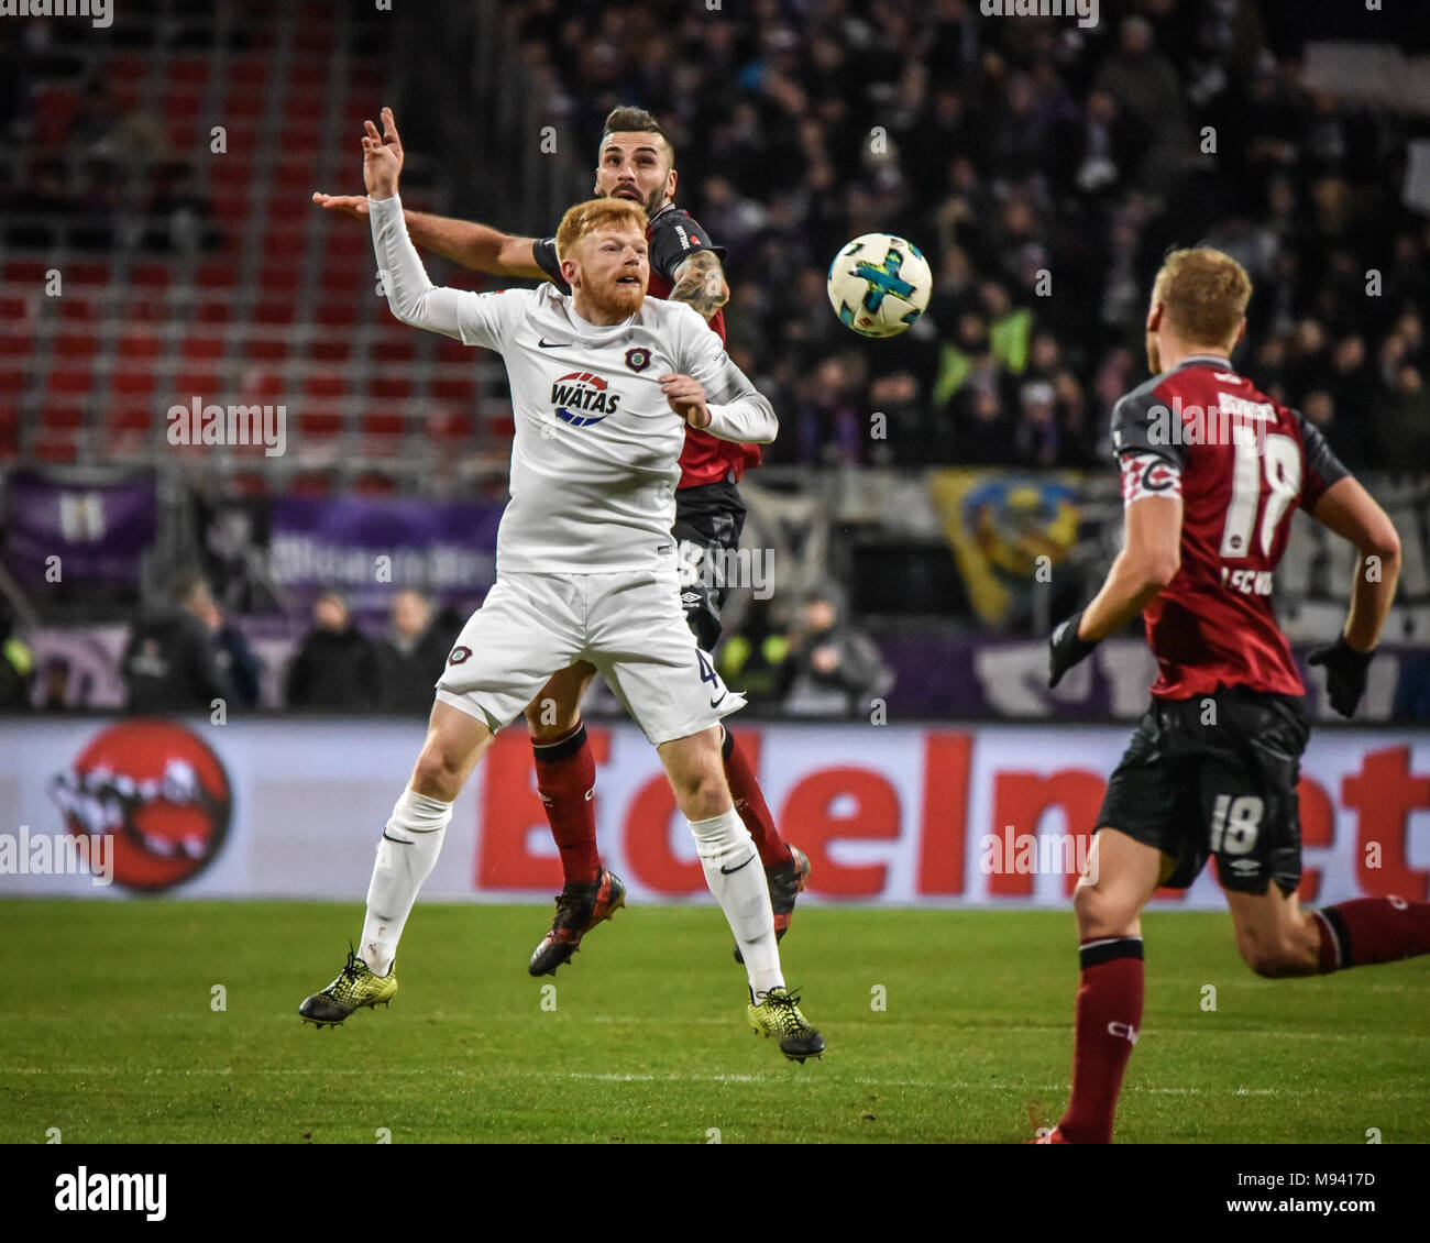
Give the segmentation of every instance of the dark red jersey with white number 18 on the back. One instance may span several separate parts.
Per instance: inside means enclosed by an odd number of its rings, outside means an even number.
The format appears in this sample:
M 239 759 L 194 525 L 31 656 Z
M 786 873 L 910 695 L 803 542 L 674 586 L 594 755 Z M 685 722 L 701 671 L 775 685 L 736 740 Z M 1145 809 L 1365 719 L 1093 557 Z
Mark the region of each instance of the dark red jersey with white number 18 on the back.
M 1271 574 L 1296 508 L 1310 512 L 1348 473 L 1321 433 L 1227 359 L 1194 356 L 1117 403 L 1113 448 L 1124 503 L 1183 501 L 1181 569 L 1143 612 L 1160 669 L 1153 695 L 1304 695 Z

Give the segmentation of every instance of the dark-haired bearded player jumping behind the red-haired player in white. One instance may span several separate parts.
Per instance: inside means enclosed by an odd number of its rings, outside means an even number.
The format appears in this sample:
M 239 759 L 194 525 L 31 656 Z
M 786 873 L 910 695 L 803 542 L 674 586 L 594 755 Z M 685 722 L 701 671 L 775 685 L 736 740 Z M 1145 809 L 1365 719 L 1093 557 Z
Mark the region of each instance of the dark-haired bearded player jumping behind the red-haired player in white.
M 398 149 L 400 139 L 390 109 L 382 112 L 383 139 Z M 596 162 L 598 197 L 628 199 L 646 213 L 649 243 L 649 296 L 685 302 L 725 339 L 721 308 L 729 299 L 721 257 L 709 235 L 682 207 L 675 206 L 675 147 L 651 113 L 618 107 L 608 117 Z M 366 197 L 313 195 L 327 210 L 360 216 Z M 412 242 L 436 255 L 495 276 L 548 279 L 569 292 L 556 259 L 555 237 L 513 237 L 486 225 L 403 212 Z M 745 506 L 736 483 L 748 466 L 759 463 L 758 445 L 719 441 L 689 429 L 681 455 L 681 482 L 675 493 L 672 536 L 681 545 L 681 602 L 685 619 L 701 648 L 714 651 L 721 637 L 719 606 L 726 595 L 721 571 L 728 564 L 745 524 Z M 561 851 L 563 885 L 556 917 L 531 957 L 532 976 L 553 974 L 571 960 L 581 938 L 625 901 L 625 885 L 601 863 L 596 850 L 596 817 L 592 791 L 596 765 L 581 719 L 581 698 L 595 668 L 576 664 L 555 674 L 526 708 L 526 725 L 536 757 L 536 790 L 552 837 Z M 795 898 L 809 877 L 809 861 L 788 845 L 748 758 L 726 729 L 725 775 L 735 808 L 759 851 L 776 937 L 784 937 Z M 742 961 L 739 947 L 735 960 Z

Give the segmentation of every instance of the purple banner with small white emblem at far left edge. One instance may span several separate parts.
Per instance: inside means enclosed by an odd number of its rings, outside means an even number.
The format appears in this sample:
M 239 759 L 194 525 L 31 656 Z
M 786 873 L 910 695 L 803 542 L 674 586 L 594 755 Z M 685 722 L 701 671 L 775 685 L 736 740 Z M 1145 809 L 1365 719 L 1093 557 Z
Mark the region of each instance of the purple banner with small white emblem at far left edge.
M 4 562 L 24 586 L 137 589 L 156 524 L 153 475 L 64 483 L 37 471 L 16 471 L 6 481 Z

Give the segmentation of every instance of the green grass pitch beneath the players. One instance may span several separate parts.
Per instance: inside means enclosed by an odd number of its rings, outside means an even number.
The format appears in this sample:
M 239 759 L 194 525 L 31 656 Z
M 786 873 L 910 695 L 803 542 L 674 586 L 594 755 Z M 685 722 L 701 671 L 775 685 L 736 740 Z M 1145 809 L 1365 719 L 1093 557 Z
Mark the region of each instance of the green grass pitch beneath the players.
M 0 1141 L 1015 1143 L 1067 1100 L 1070 913 L 799 911 L 801 1067 L 714 907 L 622 911 L 532 980 L 549 910 L 419 904 L 392 1007 L 319 1031 L 359 907 L 3 903 Z M 1430 961 L 1267 981 L 1223 913 L 1144 934 L 1118 1141 L 1430 1141 Z

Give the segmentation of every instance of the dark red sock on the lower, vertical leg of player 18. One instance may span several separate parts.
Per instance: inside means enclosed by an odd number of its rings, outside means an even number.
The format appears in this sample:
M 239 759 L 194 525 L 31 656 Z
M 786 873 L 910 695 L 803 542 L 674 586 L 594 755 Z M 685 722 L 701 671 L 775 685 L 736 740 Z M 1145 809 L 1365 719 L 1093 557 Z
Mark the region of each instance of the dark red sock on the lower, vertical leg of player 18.
M 1068 1143 L 1110 1144 L 1123 1071 L 1143 1021 L 1143 938 L 1084 941 L 1078 955 L 1072 1099 L 1058 1130 Z

